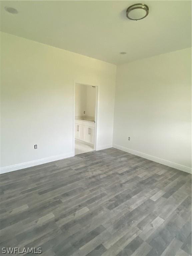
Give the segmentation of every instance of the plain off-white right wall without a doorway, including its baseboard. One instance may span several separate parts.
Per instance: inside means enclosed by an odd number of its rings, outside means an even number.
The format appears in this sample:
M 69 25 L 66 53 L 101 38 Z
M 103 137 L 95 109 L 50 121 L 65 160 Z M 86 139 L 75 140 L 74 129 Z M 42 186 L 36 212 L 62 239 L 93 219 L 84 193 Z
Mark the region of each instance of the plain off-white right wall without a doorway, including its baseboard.
M 117 67 L 113 145 L 191 172 L 190 48 Z

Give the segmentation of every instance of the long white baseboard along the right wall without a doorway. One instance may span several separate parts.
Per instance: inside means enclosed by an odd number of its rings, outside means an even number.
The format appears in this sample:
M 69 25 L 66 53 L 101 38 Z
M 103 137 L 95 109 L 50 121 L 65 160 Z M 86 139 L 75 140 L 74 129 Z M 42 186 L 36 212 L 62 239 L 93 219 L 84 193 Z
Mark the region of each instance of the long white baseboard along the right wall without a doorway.
M 130 154 L 133 154 L 133 155 L 136 155 L 136 156 L 140 156 L 140 157 L 146 158 L 148 160 L 157 162 L 159 164 L 164 164 L 166 166 L 178 169 L 180 171 L 188 172 L 188 173 L 191 174 L 191 168 L 190 167 L 187 167 L 187 166 L 184 166 L 184 165 L 181 165 L 181 164 L 177 164 L 177 163 L 173 163 L 171 161 L 168 161 L 168 160 L 156 157 L 156 156 L 151 156 L 151 155 L 148 155 L 148 154 L 145 154 L 145 153 L 142 153 L 142 152 L 130 149 L 130 148 L 122 147 L 120 145 L 114 144 L 113 147 L 117 148 L 117 149 L 120 149 L 122 151 L 128 152 Z

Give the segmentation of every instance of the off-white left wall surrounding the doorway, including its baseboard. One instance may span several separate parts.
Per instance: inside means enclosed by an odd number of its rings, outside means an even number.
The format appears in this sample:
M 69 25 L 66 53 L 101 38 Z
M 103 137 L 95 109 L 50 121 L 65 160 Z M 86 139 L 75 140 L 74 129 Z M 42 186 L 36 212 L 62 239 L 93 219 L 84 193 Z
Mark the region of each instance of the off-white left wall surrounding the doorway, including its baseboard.
M 1 173 L 73 155 L 75 82 L 98 86 L 96 149 L 111 147 L 115 78 L 113 64 L 1 32 Z

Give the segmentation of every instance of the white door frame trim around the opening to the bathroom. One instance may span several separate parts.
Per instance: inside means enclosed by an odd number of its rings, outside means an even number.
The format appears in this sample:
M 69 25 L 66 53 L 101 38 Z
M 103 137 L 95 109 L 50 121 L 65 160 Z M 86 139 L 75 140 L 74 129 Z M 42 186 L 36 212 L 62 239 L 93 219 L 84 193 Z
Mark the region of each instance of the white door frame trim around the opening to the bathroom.
M 98 85 L 92 85 L 92 84 L 85 84 L 85 83 L 79 83 L 74 82 L 73 83 L 73 156 L 75 155 L 75 85 L 76 84 L 82 84 L 87 86 L 94 86 L 96 87 L 96 104 L 95 104 L 95 141 L 94 141 L 94 150 L 97 150 L 97 126 L 98 126 L 98 91 L 99 87 Z

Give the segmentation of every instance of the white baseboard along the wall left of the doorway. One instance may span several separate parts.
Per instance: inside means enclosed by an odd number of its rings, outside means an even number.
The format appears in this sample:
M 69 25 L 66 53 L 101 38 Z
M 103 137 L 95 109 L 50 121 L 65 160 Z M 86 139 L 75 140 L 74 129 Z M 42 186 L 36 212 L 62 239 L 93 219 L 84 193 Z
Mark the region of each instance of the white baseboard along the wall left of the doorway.
M 15 165 L 2 167 L 0 169 L 0 174 L 32 167 L 32 166 L 39 165 L 39 164 L 46 164 L 49 162 L 57 161 L 60 159 L 71 157 L 71 156 L 74 156 L 73 152 L 69 152 L 69 153 L 65 153 L 65 154 L 57 155 L 57 156 L 51 156 L 51 157 L 47 157 L 47 158 L 42 158 L 39 160 L 34 160 L 34 161 L 25 162 L 25 163 L 21 163 L 21 164 L 15 164 Z

